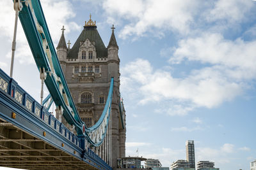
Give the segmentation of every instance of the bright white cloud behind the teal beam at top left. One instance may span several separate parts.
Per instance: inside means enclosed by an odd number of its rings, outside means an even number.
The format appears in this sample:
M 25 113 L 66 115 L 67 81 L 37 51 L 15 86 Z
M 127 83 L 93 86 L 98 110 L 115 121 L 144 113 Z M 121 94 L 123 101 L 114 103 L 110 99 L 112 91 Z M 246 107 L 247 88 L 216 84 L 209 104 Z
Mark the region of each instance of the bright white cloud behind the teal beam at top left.
M 13 39 L 15 11 L 13 10 L 12 1 L 3 1 L 2 5 L 3 6 L 0 11 L 0 37 L 7 38 L 7 43 L 10 43 L 11 46 L 11 39 Z M 75 13 L 72 11 L 70 6 L 72 6 L 72 4 L 70 4 L 69 1 L 42 1 L 42 8 L 44 10 L 45 19 L 47 21 L 51 37 L 55 43 L 57 43 L 60 39 L 60 29 L 62 25 L 66 26 L 67 32 L 78 29 L 76 23 L 68 22 L 69 18 L 75 17 Z M 3 50 L 5 51 L 6 49 Z M 10 50 L 6 50 L 5 58 L 10 59 L 10 51 L 11 47 Z M 19 60 L 21 64 L 35 63 L 26 36 L 19 21 L 17 27 L 17 48 L 15 52 L 15 59 Z

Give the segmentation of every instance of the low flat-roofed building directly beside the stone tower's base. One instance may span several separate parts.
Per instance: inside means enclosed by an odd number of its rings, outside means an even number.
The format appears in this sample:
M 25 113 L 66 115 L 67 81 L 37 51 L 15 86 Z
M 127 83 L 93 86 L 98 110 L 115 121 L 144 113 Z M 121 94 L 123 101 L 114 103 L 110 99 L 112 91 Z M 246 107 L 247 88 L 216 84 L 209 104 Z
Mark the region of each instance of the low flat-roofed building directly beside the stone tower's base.
M 119 168 L 141 168 L 141 161 L 147 160 L 143 157 L 124 157 L 117 159 Z

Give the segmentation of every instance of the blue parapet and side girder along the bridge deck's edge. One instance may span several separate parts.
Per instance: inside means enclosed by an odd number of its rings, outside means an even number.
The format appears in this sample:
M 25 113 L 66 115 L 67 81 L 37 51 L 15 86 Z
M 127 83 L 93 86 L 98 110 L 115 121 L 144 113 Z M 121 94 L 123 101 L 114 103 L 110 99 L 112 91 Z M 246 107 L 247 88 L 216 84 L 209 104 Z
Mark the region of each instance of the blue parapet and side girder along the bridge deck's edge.
M 10 122 L 18 129 L 34 136 L 34 141 L 40 139 L 40 141 L 42 140 L 70 155 L 63 157 L 74 157 L 81 160 L 83 164 L 92 166 L 93 169 L 112 169 L 95 152 L 90 148 L 87 148 L 86 143 L 84 142 L 84 137 L 80 138 L 76 136 L 76 134 L 70 132 L 67 127 L 61 124 L 61 122 L 59 122 L 54 115 L 49 113 L 44 106 L 41 106 L 35 99 L 33 99 L 33 97 L 22 89 L 13 78 L 10 78 L 2 69 L 0 69 L 0 122 L 3 120 Z M 4 137 L 4 139 L 1 138 L 3 138 L 3 136 L 0 134 L 0 143 L 1 140 L 3 141 L 7 139 L 6 137 Z M 13 139 L 8 140 L 13 141 Z M 15 156 L 7 155 L 4 156 L 4 159 L 6 159 L 5 157 L 9 159 L 10 157 Z M 20 157 L 20 155 L 18 157 Z M 35 156 L 31 155 L 29 157 Z M 49 159 L 49 157 L 54 156 L 47 155 L 45 157 Z M 3 162 L 1 161 L 0 157 L 0 165 L 8 166 L 7 163 L 6 165 L 2 164 Z M 12 162 L 14 160 L 10 159 L 3 161 Z M 87 166 L 85 166 L 85 169 L 88 169 Z

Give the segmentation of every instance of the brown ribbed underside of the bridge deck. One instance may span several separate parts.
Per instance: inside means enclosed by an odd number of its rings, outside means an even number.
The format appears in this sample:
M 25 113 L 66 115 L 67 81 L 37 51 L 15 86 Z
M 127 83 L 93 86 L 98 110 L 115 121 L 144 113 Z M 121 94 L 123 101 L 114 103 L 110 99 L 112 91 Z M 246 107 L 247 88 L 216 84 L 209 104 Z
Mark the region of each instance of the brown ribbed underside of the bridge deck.
M 0 120 L 0 166 L 22 169 L 96 169 Z

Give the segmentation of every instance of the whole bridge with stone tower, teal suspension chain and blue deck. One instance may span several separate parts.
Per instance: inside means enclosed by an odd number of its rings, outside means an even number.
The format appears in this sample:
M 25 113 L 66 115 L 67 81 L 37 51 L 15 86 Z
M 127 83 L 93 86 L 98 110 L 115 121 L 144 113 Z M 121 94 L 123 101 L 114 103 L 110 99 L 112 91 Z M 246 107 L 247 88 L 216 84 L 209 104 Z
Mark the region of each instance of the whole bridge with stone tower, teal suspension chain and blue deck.
M 42 92 L 38 103 L 12 78 L 13 67 L 10 76 L 0 69 L 0 166 L 117 167 L 117 159 L 125 157 L 126 129 L 114 25 L 107 47 L 91 15 L 72 47 L 63 27 L 56 52 L 40 1 L 14 1 L 14 9 L 38 67 Z M 56 105 L 55 116 L 49 112 L 51 104 Z

